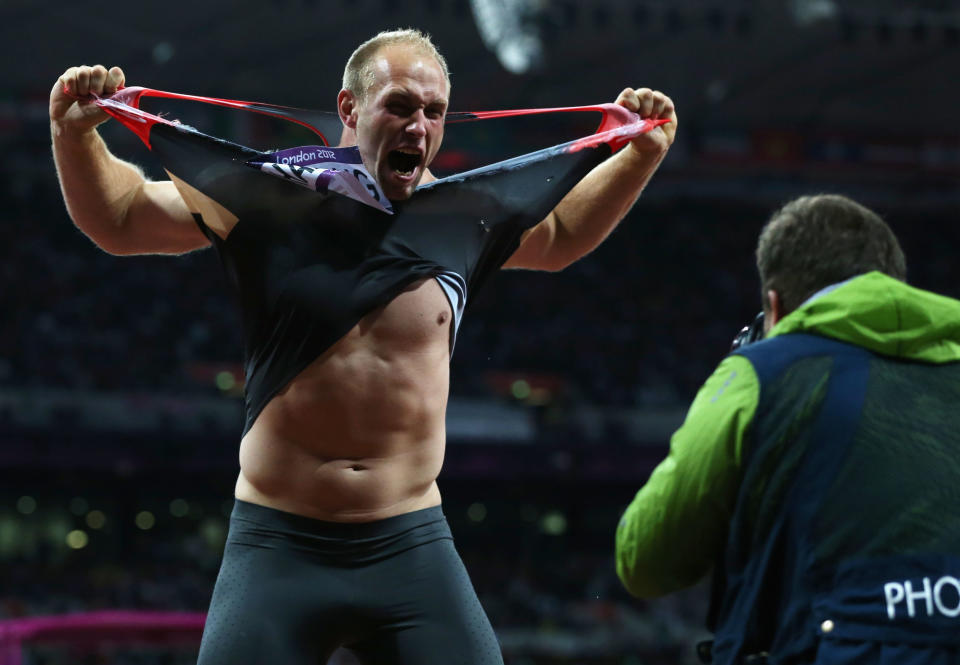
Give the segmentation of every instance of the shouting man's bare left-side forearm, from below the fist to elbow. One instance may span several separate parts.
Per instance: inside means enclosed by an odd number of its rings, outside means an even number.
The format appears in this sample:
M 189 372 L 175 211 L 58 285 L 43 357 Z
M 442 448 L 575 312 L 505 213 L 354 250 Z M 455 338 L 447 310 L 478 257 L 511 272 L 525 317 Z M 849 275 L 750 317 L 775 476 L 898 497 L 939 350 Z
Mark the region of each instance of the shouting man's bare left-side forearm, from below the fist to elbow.
M 115 157 L 94 130 L 77 133 L 53 122 L 53 159 L 67 211 L 77 227 L 106 251 L 118 251 L 130 203 L 143 173 Z

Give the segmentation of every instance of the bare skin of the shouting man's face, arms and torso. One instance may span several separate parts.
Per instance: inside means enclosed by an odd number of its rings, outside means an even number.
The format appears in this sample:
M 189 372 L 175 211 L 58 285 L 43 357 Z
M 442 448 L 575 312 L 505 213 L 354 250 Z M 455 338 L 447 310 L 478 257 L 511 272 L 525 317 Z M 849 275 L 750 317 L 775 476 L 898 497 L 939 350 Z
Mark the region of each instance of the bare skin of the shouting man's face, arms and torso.
M 389 198 L 405 199 L 432 179 L 427 167 L 443 139 L 449 88 L 439 63 L 410 45 L 382 48 L 373 70 L 362 99 L 349 91 L 337 98 L 342 142 L 356 143 Z M 191 213 L 209 215 L 216 205 L 181 196 L 173 182 L 145 181 L 97 134 L 107 116 L 75 103 L 123 82 L 117 67 L 73 67 L 51 91 L 54 159 L 74 223 L 114 254 L 209 246 Z M 671 123 L 588 174 L 527 231 L 507 265 L 559 270 L 596 247 L 636 201 L 673 142 L 676 115 L 668 97 L 645 88 L 627 88 L 617 102 Z M 236 220 L 217 221 L 227 233 Z M 241 441 L 237 498 L 336 522 L 438 505 L 452 319 L 434 279 L 367 314 L 260 412 Z

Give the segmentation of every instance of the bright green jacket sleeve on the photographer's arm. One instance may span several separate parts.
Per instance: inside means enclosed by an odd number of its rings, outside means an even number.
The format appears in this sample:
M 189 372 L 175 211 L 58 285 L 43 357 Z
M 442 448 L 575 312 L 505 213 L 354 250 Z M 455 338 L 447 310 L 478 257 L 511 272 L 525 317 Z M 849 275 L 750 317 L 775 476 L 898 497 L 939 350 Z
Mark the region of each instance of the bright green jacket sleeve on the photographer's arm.
M 695 583 L 723 546 L 739 486 L 743 439 L 759 384 L 750 362 L 725 359 L 700 389 L 670 454 L 617 529 L 617 572 L 640 596 Z

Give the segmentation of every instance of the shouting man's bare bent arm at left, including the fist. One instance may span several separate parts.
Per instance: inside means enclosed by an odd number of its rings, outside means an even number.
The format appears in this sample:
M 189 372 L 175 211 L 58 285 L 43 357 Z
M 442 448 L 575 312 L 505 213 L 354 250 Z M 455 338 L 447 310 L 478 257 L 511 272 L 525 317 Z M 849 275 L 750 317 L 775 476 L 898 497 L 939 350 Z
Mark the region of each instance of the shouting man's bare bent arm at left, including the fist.
M 181 254 L 209 245 L 172 182 L 149 182 L 97 133 L 107 114 L 88 101 L 123 86 L 123 71 L 71 67 L 50 91 L 53 159 L 67 211 L 111 254 Z

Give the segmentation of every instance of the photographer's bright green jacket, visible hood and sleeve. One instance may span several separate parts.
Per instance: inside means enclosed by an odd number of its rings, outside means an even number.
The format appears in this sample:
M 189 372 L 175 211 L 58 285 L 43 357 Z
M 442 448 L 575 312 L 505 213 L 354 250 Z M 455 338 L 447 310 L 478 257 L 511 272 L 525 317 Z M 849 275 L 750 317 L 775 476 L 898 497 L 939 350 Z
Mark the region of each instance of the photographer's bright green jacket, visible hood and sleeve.
M 808 333 L 905 361 L 960 361 L 960 301 L 879 272 L 828 287 L 784 317 L 767 338 Z M 750 361 L 730 355 L 698 392 L 670 453 L 623 514 L 617 574 L 632 594 L 690 586 L 723 550 L 741 460 L 759 399 Z

